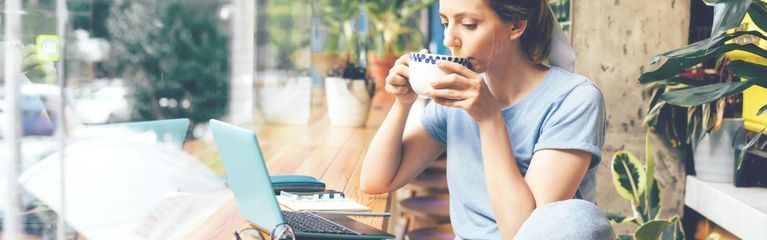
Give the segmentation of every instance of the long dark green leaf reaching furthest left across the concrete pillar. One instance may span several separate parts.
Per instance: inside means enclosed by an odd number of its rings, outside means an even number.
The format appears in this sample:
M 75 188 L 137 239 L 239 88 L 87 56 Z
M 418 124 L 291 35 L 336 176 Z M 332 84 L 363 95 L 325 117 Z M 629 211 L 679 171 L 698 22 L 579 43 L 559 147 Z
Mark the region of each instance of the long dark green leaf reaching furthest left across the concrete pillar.
M 767 37 L 758 31 L 723 33 L 719 36 L 704 39 L 676 50 L 661 53 L 655 56 L 650 64 L 655 65 L 663 60 L 665 61 L 661 63 L 657 69 L 642 73 L 642 75 L 639 76 L 639 82 L 645 84 L 671 78 L 682 72 L 684 69 L 734 50 L 747 51 L 767 58 L 767 50 L 761 49 L 754 44 L 725 44 L 728 40 L 746 34 L 767 40 Z

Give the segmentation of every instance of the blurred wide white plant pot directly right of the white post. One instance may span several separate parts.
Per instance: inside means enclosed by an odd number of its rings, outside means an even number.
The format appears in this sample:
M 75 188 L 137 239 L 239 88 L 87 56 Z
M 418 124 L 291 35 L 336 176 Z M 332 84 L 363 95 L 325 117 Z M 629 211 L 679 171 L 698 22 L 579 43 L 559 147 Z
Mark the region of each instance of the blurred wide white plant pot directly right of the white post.
M 311 115 L 311 79 L 286 73 L 259 78 L 258 104 L 264 120 L 274 124 L 301 125 Z

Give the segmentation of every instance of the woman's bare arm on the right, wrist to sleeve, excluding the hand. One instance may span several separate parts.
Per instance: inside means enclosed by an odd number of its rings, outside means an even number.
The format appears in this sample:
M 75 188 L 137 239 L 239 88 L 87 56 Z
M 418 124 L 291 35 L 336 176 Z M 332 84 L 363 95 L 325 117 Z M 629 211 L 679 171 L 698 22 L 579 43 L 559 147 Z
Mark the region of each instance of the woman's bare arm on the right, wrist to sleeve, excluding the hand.
M 523 178 L 503 119 L 480 123 L 488 195 L 503 239 L 512 239 L 535 208 L 570 199 L 591 155 L 580 150 L 540 150 Z

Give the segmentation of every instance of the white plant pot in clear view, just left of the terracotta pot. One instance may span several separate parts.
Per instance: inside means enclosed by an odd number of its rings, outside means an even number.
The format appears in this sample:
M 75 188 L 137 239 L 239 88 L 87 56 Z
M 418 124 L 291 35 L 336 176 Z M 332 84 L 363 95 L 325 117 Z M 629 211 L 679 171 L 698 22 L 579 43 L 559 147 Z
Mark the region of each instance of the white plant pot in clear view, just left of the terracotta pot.
M 362 79 L 325 78 L 325 97 L 330 123 L 361 127 L 370 111 L 370 85 Z

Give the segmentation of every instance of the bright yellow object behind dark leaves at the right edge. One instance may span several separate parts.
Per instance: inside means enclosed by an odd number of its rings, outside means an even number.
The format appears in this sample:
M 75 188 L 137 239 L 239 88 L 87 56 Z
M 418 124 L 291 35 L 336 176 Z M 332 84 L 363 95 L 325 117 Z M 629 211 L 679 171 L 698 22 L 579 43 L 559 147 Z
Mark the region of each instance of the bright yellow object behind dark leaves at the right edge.
M 764 2 L 765 0 L 762 1 Z M 748 13 L 746 13 L 746 16 L 743 17 L 743 21 L 741 21 L 740 27 L 736 28 L 735 31 L 759 31 L 762 34 L 767 35 L 764 30 L 760 29 L 756 26 L 756 24 L 754 24 L 754 21 L 751 19 L 751 16 L 749 16 Z M 727 43 L 731 43 L 733 41 L 739 44 L 753 43 L 759 46 L 761 49 L 767 49 L 767 41 L 756 36 L 743 35 L 730 40 Z M 759 65 L 767 65 L 767 59 L 749 52 L 736 50 L 728 52 L 725 55 L 731 60 L 743 60 Z M 752 86 L 743 91 L 743 119 L 746 129 L 754 132 L 759 132 L 762 130 L 762 128 L 764 128 L 765 125 L 767 125 L 767 113 L 762 114 L 761 116 L 756 116 L 756 112 L 759 111 L 759 108 L 765 104 L 767 104 L 766 88 L 760 86 Z

